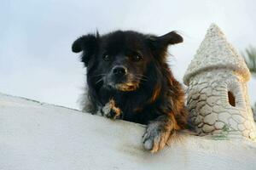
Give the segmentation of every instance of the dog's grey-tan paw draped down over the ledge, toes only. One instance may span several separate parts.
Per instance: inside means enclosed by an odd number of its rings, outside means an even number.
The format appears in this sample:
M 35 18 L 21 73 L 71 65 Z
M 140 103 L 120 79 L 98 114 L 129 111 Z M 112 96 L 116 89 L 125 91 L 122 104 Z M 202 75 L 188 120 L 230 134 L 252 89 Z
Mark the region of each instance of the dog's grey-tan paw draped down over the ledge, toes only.
M 166 145 L 172 130 L 166 130 L 161 122 L 152 122 L 143 134 L 143 147 L 152 153 L 162 150 Z

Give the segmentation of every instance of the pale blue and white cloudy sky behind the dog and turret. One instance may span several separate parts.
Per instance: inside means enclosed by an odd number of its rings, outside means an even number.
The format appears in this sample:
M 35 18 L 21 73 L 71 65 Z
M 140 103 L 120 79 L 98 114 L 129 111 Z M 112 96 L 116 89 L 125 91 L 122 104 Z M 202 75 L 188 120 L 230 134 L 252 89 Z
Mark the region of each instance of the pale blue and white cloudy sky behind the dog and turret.
M 170 48 L 172 71 L 182 82 L 208 26 L 216 23 L 237 51 L 256 46 L 253 0 L 87 1 L 2 0 L 0 92 L 79 108 L 85 70 L 73 41 L 86 33 L 135 30 L 162 35 L 176 30 L 184 42 Z M 256 101 L 256 80 L 249 94 Z M 254 88 L 254 89 L 253 89 Z

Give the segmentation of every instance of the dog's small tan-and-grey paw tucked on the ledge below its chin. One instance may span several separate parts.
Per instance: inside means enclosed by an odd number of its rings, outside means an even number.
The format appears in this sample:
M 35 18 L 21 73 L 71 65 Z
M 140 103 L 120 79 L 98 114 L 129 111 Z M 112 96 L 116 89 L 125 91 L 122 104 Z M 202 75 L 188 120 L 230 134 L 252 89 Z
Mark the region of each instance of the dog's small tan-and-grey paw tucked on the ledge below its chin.
M 111 119 L 119 119 L 121 111 L 115 106 L 114 100 L 110 99 L 109 102 L 102 107 L 102 116 L 106 116 Z

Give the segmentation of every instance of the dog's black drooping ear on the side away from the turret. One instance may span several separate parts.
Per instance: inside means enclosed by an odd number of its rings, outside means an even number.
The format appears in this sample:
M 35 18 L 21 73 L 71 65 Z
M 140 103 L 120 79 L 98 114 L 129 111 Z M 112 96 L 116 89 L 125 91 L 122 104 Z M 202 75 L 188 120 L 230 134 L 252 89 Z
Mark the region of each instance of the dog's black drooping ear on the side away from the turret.
M 88 65 L 91 57 L 96 54 L 99 43 L 99 34 L 96 35 L 88 34 L 82 37 L 79 37 L 76 41 L 73 42 L 72 51 L 74 53 L 83 52 L 81 61 L 85 66 Z

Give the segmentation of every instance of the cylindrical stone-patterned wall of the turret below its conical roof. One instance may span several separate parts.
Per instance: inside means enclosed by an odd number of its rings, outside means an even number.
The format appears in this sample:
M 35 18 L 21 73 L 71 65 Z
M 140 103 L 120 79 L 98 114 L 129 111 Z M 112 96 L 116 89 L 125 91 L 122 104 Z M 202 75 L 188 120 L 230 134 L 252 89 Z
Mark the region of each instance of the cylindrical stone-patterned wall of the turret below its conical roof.
M 192 77 L 187 89 L 187 105 L 196 132 L 206 134 L 239 134 L 255 139 L 253 112 L 247 96 L 247 85 L 233 71 L 213 69 Z M 229 103 L 234 94 L 236 106 Z

